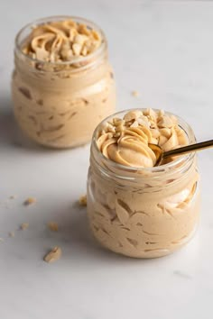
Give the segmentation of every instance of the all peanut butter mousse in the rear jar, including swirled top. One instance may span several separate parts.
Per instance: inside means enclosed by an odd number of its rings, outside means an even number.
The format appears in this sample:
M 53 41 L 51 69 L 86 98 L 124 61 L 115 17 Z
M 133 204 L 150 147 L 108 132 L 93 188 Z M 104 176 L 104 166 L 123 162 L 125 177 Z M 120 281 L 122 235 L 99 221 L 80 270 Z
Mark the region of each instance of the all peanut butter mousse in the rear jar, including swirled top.
M 32 23 L 16 38 L 14 114 L 33 141 L 75 147 L 115 111 L 116 85 L 104 33 L 84 19 L 52 19 Z

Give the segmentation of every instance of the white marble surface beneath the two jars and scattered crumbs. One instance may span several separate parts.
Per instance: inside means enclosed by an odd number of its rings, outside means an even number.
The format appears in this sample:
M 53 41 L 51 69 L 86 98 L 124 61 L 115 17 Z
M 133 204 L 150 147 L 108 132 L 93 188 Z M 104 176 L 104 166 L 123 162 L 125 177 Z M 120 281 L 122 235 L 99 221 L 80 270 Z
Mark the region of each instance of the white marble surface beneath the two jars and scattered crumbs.
M 116 256 L 93 242 L 86 211 L 75 205 L 86 189 L 88 146 L 54 151 L 25 141 L 12 117 L 10 74 L 14 35 L 24 23 L 52 14 L 88 17 L 106 31 L 118 109 L 164 108 L 187 120 L 199 141 L 212 139 L 213 2 L 7 0 L 0 6 L 0 236 L 5 240 L 0 318 L 212 318 L 212 150 L 199 155 L 203 203 L 194 240 L 158 260 Z M 12 195 L 17 198 L 6 201 Z M 38 203 L 24 207 L 28 196 Z M 51 220 L 60 232 L 46 229 Z M 19 231 L 24 222 L 29 229 Z M 60 245 L 62 258 L 46 264 L 42 257 L 54 245 Z

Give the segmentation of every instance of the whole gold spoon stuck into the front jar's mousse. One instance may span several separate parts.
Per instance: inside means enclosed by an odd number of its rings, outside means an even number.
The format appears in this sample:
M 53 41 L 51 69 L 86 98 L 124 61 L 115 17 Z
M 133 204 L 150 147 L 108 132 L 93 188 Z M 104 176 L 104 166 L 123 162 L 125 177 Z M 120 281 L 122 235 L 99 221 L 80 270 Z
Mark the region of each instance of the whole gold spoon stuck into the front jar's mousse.
M 153 150 L 156 156 L 156 163 L 154 166 L 159 166 L 162 164 L 162 160 L 165 160 L 171 156 L 179 156 L 182 154 L 190 153 L 192 151 L 198 151 L 203 149 L 208 149 L 213 147 L 213 140 L 202 141 L 196 144 L 190 144 L 188 146 L 181 147 L 179 149 L 163 151 L 161 146 L 155 144 L 149 144 L 151 150 Z

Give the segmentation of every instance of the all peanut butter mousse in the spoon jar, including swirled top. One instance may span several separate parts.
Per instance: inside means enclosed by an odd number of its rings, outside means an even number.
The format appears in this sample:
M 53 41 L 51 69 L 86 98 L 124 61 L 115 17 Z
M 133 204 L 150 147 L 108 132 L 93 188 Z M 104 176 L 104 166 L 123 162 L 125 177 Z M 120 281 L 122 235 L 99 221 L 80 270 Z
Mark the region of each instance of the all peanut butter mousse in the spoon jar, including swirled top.
M 102 123 L 96 134 L 87 198 L 97 241 L 136 258 L 160 257 L 188 242 L 199 219 L 196 159 L 170 159 L 153 168 L 156 159 L 148 146 L 171 150 L 193 142 L 188 124 L 182 127 L 163 111 L 134 110 Z

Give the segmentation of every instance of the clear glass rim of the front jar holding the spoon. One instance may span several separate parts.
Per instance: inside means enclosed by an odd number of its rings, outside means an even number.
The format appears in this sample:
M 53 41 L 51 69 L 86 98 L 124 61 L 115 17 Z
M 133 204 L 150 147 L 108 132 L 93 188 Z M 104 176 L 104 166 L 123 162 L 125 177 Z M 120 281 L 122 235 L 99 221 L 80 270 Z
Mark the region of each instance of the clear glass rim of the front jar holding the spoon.
M 97 132 L 101 128 L 101 125 L 103 125 L 109 119 L 111 119 L 113 117 L 118 117 L 117 115 L 128 113 L 130 111 L 145 111 L 146 109 L 147 108 L 131 108 L 131 109 L 123 110 L 123 111 L 118 111 L 115 114 L 111 114 L 111 115 L 107 116 L 103 121 L 98 123 L 95 131 L 93 132 L 92 144 L 94 145 L 95 150 L 96 150 L 98 156 L 100 157 L 100 160 L 104 160 L 106 162 L 106 164 L 108 164 L 111 167 L 114 167 L 115 169 L 120 169 L 121 171 L 124 170 L 125 172 L 130 172 L 130 173 L 135 173 L 135 172 L 144 172 L 144 173 L 158 173 L 159 172 L 160 173 L 160 172 L 165 171 L 165 170 L 171 170 L 171 169 L 174 169 L 175 167 L 180 167 L 183 163 L 189 163 L 191 160 L 193 160 L 195 157 L 195 152 L 181 155 L 178 157 L 178 159 L 172 160 L 171 162 L 160 165 L 160 166 L 156 166 L 156 167 L 152 167 L 152 168 L 135 168 L 135 167 L 130 167 L 130 166 L 125 166 L 123 164 L 119 164 L 119 163 L 115 162 L 114 160 L 110 160 L 110 159 L 106 158 L 106 156 L 103 155 L 103 153 L 97 147 Z M 153 108 L 153 111 L 158 112 L 158 111 L 160 111 L 160 109 Z M 192 143 L 196 142 L 196 138 L 195 138 L 193 130 L 190 127 L 190 124 L 186 123 L 179 115 L 176 115 L 176 114 L 173 114 L 173 113 L 167 112 L 167 111 L 164 111 L 164 113 L 168 114 L 168 115 L 176 116 L 179 123 L 182 123 L 185 125 L 187 132 L 184 128 L 182 128 L 182 127 L 181 128 L 184 130 L 184 132 L 186 132 L 188 138 L 189 138 L 189 133 L 190 133 L 190 141 L 192 141 Z

